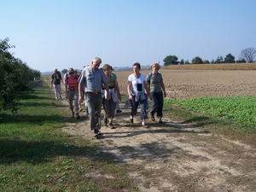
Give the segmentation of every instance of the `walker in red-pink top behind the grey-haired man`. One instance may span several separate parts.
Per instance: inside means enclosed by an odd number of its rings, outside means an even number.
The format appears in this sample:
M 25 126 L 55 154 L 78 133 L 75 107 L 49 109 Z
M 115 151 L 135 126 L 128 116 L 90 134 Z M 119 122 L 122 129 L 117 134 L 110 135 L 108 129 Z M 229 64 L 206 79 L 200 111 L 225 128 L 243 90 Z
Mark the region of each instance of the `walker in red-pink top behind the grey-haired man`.
M 68 99 L 69 109 L 71 110 L 72 117 L 79 119 L 79 89 L 78 89 L 78 77 L 74 74 L 75 71 L 73 68 L 69 68 L 67 78 L 65 79 L 65 91 L 66 98 Z M 73 107 L 74 102 L 74 107 Z M 74 110 L 73 110 L 74 109 Z

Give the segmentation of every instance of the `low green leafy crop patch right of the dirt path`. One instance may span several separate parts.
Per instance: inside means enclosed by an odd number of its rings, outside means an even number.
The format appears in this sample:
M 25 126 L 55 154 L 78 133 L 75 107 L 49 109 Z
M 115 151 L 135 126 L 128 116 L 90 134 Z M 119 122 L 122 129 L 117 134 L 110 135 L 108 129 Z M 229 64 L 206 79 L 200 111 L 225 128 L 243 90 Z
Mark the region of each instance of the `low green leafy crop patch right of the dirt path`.
M 186 122 L 220 125 L 224 132 L 235 132 L 256 137 L 256 97 L 200 97 L 165 100 L 165 110 L 183 117 Z

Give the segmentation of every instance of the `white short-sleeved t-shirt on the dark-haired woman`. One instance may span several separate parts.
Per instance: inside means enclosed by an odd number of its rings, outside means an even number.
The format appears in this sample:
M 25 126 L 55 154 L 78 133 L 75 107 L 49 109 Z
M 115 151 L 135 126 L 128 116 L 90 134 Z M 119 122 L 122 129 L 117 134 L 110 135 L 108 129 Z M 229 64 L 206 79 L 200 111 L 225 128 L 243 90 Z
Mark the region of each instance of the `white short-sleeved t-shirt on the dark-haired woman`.
M 134 76 L 134 74 L 129 75 L 128 81 L 131 82 L 131 95 L 135 96 L 135 91 L 144 91 L 144 84 L 143 82 L 146 80 L 145 75 L 140 73 L 140 78 L 137 79 L 137 77 Z

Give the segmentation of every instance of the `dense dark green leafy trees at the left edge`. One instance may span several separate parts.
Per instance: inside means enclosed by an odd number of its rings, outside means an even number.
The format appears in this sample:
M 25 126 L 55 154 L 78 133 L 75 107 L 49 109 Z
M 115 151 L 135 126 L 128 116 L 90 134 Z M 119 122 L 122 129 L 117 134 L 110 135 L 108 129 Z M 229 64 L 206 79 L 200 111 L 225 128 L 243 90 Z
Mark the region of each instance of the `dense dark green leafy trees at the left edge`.
M 9 38 L 0 40 L 0 111 L 16 113 L 20 95 L 32 90 L 28 82 L 40 78 L 41 73 L 15 58 L 9 52 L 11 48 L 15 46 L 9 44 Z

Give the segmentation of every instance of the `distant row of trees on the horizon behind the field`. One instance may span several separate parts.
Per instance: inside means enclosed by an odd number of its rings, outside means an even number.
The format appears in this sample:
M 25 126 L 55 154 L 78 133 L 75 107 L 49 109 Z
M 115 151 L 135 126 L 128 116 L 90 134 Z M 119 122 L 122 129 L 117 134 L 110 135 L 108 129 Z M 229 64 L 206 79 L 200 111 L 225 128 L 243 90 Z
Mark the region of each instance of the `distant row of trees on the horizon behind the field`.
M 218 56 L 217 59 L 214 61 L 208 61 L 208 60 L 202 60 L 200 56 L 196 56 L 192 59 L 192 64 L 209 64 L 209 63 L 245 63 L 245 62 L 254 62 L 254 58 L 256 56 L 256 49 L 254 48 L 247 48 L 241 50 L 241 56 L 238 60 L 235 59 L 235 56 L 228 54 L 224 58 L 223 56 Z M 168 65 L 177 65 L 177 64 L 190 64 L 189 60 L 184 61 L 183 59 L 181 61 L 178 61 L 178 58 L 176 55 L 168 55 L 163 60 L 164 66 Z

